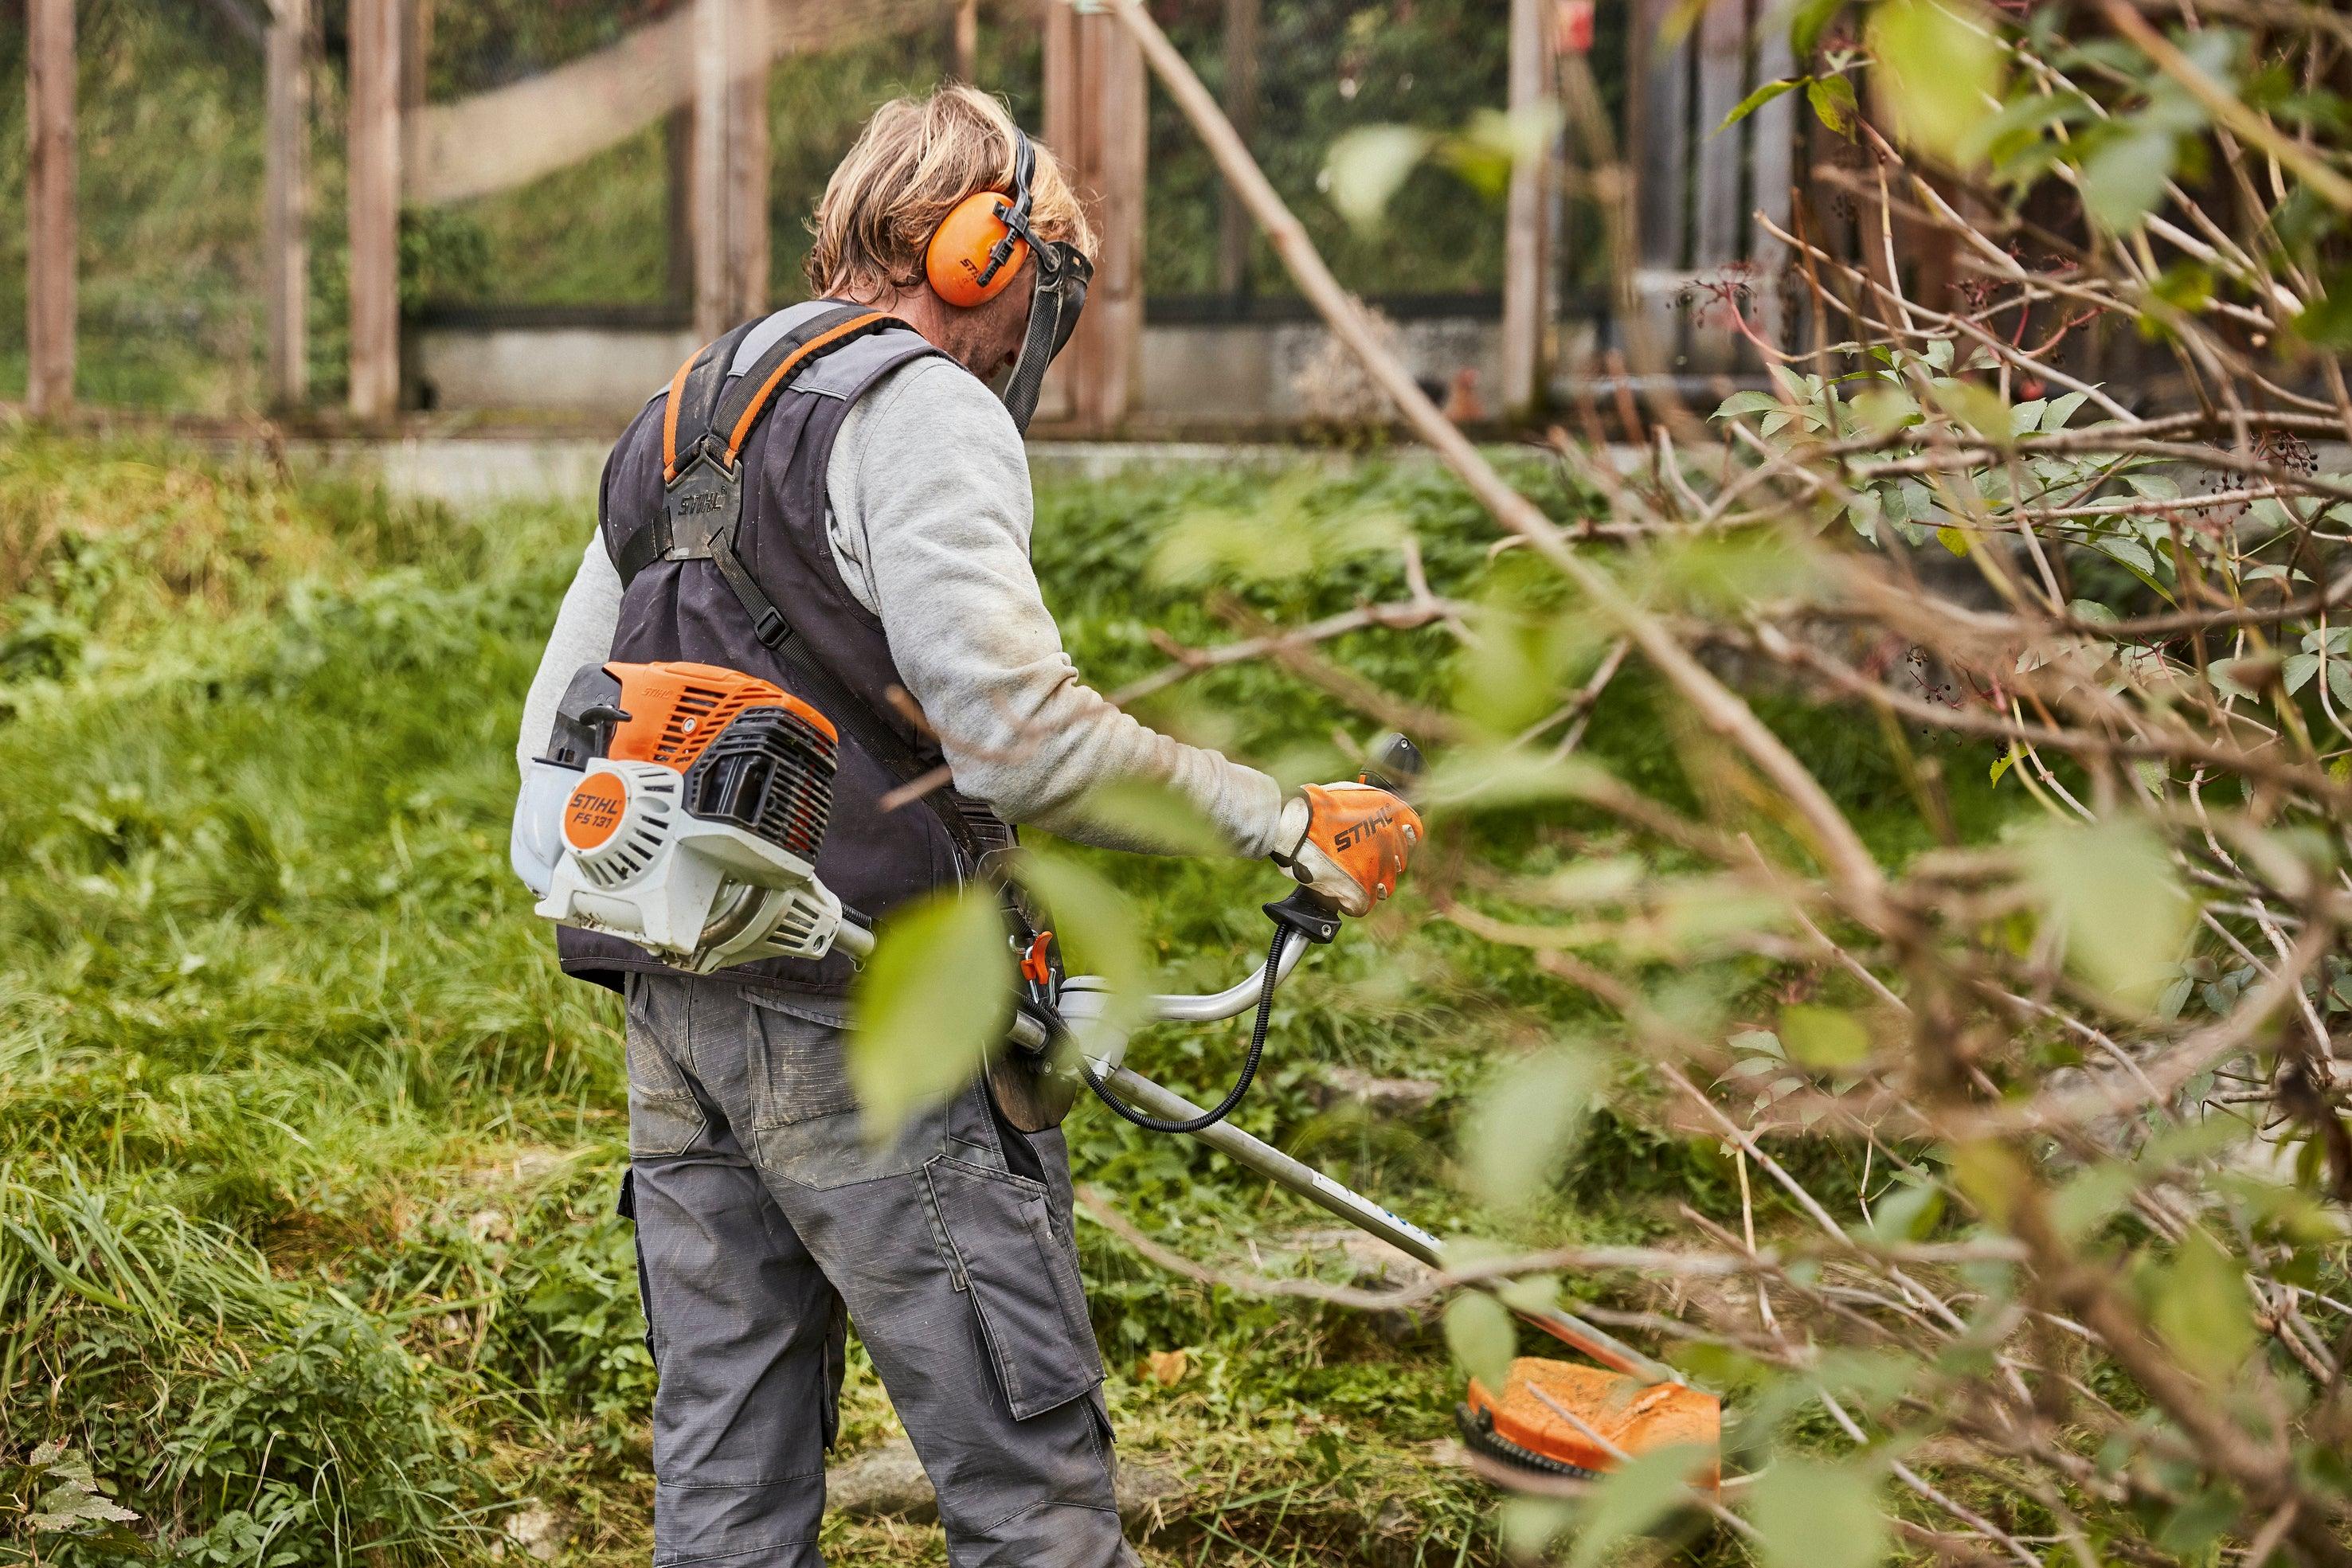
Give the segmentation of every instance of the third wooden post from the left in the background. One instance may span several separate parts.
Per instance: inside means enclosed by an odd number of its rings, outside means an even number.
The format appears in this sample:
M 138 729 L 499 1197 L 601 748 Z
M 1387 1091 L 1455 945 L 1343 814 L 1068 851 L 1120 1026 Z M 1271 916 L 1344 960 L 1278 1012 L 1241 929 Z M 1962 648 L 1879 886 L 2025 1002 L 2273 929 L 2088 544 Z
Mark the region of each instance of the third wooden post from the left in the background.
M 350 411 L 400 404 L 400 0 L 350 0 Z

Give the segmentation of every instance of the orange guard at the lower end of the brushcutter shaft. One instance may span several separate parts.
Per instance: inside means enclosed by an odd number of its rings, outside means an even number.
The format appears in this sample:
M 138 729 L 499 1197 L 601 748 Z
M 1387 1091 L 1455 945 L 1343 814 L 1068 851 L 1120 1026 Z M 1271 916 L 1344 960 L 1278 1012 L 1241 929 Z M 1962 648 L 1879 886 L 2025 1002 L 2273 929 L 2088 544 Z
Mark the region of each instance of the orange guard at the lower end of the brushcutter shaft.
M 1679 1382 L 1637 1382 L 1578 1361 L 1519 1356 L 1510 1363 L 1501 1399 L 1479 1380 L 1470 1380 L 1470 1408 L 1491 1415 L 1494 1434 L 1515 1448 L 1578 1469 L 1618 1467 L 1618 1458 L 1595 1441 L 1597 1432 L 1632 1455 L 1689 1443 L 1705 1450 L 1691 1455 L 1691 1483 L 1712 1490 L 1722 1479 L 1717 1448 L 1724 1436 L 1724 1408 L 1715 1394 Z M 1578 1427 L 1578 1420 L 1592 1432 Z

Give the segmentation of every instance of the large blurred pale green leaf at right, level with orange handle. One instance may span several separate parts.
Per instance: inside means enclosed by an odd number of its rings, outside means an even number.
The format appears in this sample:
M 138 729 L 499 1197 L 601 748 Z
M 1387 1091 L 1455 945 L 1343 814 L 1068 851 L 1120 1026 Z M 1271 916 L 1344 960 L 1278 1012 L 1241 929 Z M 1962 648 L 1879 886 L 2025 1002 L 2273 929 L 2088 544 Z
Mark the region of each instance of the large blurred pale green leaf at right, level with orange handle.
M 2164 842 L 2129 820 L 2046 827 L 2030 877 L 2065 926 L 2067 964 L 2122 1006 L 2154 1006 L 2197 917 Z

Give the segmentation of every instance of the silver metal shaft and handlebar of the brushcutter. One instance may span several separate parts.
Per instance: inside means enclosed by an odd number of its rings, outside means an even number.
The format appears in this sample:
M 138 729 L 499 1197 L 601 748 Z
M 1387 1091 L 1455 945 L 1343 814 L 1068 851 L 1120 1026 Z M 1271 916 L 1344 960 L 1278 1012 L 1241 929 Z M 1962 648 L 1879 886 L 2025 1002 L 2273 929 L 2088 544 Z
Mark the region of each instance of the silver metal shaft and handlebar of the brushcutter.
M 1282 957 L 1275 966 L 1277 985 L 1284 978 L 1289 978 L 1289 973 L 1298 966 L 1298 959 L 1305 952 L 1305 947 L 1308 943 L 1303 936 L 1291 936 L 1289 943 L 1282 945 Z M 1265 966 L 1261 964 L 1240 985 L 1232 985 L 1214 994 L 1150 997 L 1145 1001 L 1145 1016 L 1164 1023 L 1216 1023 L 1221 1018 L 1235 1018 L 1237 1013 L 1256 1006 L 1258 990 L 1263 983 L 1265 983 Z M 1023 1032 L 1021 1025 L 1028 1025 L 1028 1030 Z M 1018 1018 L 1014 1032 L 1016 1037 L 1025 1039 L 1025 1044 L 1030 1044 L 1033 1048 L 1044 1044 L 1044 1030 L 1025 1016 Z M 1096 1074 L 1136 1110 L 1169 1121 L 1190 1121 L 1192 1117 L 1200 1117 L 1200 1107 L 1185 1100 L 1174 1088 L 1162 1088 L 1141 1072 L 1122 1067 L 1112 1058 L 1091 1058 L 1091 1060 Z M 1192 1138 L 1200 1138 L 1211 1150 L 1249 1166 L 1251 1171 L 1275 1182 L 1277 1187 L 1296 1192 L 1317 1208 L 1338 1215 L 1348 1225 L 1355 1225 L 1357 1229 L 1378 1237 L 1381 1241 L 1388 1241 L 1390 1246 L 1414 1258 L 1416 1262 L 1425 1262 L 1432 1269 L 1446 1267 L 1444 1241 L 1421 1229 L 1411 1220 L 1390 1213 L 1381 1204 L 1374 1204 L 1364 1194 L 1343 1187 L 1341 1182 L 1331 1180 L 1315 1166 L 1301 1159 L 1291 1159 L 1270 1143 L 1251 1138 L 1232 1121 L 1214 1121 L 1195 1131 Z M 1585 1356 L 1599 1361 L 1602 1366 L 1625 1373 L 1628 1378 L 1642 1378 L 1646 1382 L 1682 1382 L 1682 1373 L 1677 1373 L 1668 1363 L 1644 1356 L 1632 1345 L 1625 1345 L 1616 1335 L 1595 1328 L 1592 1324 L 1583 1321 L 1571 1312 L 1562 1312 L 1557 1307 L 1512 1307 L 1512 1312 L 1517 1312 L 1524 1321 L 1545 1331 L 1562 1345 L 1569 1345 L 1571 1349 L 1578 1349 Z

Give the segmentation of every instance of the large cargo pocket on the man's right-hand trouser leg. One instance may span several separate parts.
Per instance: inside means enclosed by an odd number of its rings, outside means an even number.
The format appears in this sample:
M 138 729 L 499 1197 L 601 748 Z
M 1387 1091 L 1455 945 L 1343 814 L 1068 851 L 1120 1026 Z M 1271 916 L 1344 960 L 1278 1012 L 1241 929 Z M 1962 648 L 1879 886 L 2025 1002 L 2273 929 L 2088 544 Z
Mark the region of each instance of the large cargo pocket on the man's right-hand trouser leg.
M 1087 1295 L 1054 1241 L 1044 1185 L 948 1154 L 922 1168 L 941 1251 L 971 1295 L 1014 1420 L 1028 1420 L 1103 1380 Z

